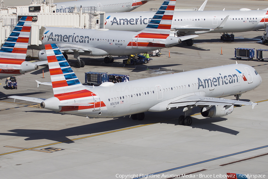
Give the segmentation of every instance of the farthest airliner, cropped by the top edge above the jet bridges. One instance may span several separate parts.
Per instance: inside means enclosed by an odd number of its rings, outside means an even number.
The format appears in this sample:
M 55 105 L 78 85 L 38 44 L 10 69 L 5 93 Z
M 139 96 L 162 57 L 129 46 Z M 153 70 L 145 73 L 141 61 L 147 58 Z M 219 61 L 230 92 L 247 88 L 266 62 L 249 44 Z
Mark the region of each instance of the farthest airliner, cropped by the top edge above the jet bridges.
M 115 12 L 130 12 L 137 7 L 153 0 L 79 0 L 79 1 L 69 1 L 69 2 L 58 2 L 57 13 L 68 13 L 72 12 L 72 7 L 97 7 L 97 11 L 103 11 L 107 13 Z M 145 28 L 145 27 L 144 27 Z

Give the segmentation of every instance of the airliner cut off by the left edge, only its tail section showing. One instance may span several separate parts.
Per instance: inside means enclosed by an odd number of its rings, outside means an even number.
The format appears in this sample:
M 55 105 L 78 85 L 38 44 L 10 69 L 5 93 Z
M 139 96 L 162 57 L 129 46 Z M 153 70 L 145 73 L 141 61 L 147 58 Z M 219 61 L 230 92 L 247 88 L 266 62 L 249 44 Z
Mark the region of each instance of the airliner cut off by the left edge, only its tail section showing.
M 38 69 L 47 61 L 25 61 L 32 17 L 22 17 L 0 49 L 0 79 L 21 75 Z

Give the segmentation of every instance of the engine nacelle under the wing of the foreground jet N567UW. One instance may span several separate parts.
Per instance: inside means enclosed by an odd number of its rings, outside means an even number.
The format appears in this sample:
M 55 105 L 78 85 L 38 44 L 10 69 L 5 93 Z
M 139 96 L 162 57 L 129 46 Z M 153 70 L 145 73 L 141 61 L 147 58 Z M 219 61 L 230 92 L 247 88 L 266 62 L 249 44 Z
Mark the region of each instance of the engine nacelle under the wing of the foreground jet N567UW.
M 233 105 L 232 106 L 213 106 L 209 108 L 208 110 L 202 112 L 203 108 L 201 109 L 201 115 L 203 117 L 222 117 L 229 115 L 233 112 Z

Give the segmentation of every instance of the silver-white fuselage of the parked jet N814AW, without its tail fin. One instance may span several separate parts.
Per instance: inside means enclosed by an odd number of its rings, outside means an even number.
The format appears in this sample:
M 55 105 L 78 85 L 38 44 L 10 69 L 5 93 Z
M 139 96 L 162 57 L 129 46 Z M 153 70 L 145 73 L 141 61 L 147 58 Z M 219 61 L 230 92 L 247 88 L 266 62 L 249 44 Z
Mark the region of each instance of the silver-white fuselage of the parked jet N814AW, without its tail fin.
M 46 27 L 45 33 L 42 46 L 38 46 L 38 50 L 45 49 L 45 44 L 57 44 L 60 48 L 79 46 L 81 50 L 83 48 L 91 50 L 90 53 L 80 53 L 80 55 L 88 56 L 124 56 L 161 49 L 179 43 L 179 38 L 172 36 L 161 37 L 162 39 L 160 40 L 163 40 L 166 44 L 140 42 L 141 38 L 135 38 L 139 32 L 130 31 L 121 31 L 119 33 L 116 30 Z M 153 39 L 148 38 L 149 40 Z M 68 52 L 66 53 L 68 54 Z

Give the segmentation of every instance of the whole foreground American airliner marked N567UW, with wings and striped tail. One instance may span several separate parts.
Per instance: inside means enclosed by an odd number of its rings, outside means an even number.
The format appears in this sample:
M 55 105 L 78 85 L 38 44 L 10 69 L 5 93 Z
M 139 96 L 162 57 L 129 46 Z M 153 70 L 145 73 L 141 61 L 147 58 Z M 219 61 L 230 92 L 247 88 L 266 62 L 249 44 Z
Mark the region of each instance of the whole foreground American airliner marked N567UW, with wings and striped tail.
M 179 124 L 191 125 L 188 116 L 200 107 L 204 117 L 222 117 L 233 112 L 234 105 L 256 103 L 221 98 L 239 96 L 261 84 L 261 76 L 251 66 L 231 64 L 180 72 L 121 83 L 104 82 L 98 87 L 80 83 L 56 44 L 47 44 L 49 72 L 54 97 L 24 96 L 9 98 L 33 101 L 52 111 L 89 118 L 115 118 L 130 115 L 143 120 L 144 112 L 162 112 L 183 108 Z

